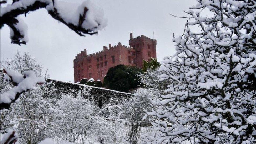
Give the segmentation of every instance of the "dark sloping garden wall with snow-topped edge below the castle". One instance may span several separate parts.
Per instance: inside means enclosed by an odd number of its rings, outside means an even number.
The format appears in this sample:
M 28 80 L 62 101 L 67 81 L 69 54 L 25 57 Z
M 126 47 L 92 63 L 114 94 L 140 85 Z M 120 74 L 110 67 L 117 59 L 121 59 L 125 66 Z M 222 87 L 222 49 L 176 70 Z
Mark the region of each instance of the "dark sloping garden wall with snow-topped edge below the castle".
M 53 97 L 55 99 L 61 98 L 65 95 L 76 96 L 78 92 L 81 92 L 81 95 L 84 98 L 93 100 L 93 102 L 97 103 L 95 105 L 98 105 L 99 108 L 106 105 L 122 104 L 124 100 L 133 96 L 133 94 L 130 93 L 52 79 L 47 79 L 45 89 L 47 89 L 45 97 Z

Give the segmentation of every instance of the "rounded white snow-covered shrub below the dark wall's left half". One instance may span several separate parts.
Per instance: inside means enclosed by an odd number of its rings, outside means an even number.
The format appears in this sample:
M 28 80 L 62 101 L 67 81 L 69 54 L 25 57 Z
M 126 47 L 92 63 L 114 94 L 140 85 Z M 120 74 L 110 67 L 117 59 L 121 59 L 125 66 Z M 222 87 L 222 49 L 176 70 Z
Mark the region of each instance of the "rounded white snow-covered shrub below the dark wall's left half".
M 63 95 L 56 108 L 59 112 L 55 120 L 56 141 L 83 143 L 93 134 L 94 106 L 80 93 L 75 98 Z

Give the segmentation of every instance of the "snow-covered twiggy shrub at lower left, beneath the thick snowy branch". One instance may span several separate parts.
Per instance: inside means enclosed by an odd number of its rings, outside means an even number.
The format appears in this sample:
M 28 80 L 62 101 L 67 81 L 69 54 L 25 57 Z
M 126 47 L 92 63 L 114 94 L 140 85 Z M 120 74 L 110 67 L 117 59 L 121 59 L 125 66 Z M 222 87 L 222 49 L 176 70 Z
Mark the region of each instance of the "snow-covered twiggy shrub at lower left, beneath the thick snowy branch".
M 4 116 L 5 124 L 1 131 L 13 128 L 17 132 L 19 143 L 38 143 L 44 138 L 53 137 L 55 106 L 49 99 L 41 97 L 40 88 L 20 95 Z

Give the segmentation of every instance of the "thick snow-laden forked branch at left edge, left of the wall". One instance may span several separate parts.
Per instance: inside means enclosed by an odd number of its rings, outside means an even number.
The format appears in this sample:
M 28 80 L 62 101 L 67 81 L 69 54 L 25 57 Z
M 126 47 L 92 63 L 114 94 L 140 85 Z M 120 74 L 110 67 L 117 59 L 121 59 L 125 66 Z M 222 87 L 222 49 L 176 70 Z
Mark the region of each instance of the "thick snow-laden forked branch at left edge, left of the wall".
M 8 109 L 10 104 L 14 103 L 22 93 L 32 89 L 36 84 L 45 83 L 45 79 L 42 77 L 36 77 L 33 71 L 25 71 L 24 74 L 8 69 L 4 69 L 3 71 L 6 73 L 4 76 L 5 80 L 13 83 L 15 87 L 8 92 L 1 94 L 1 109 Z

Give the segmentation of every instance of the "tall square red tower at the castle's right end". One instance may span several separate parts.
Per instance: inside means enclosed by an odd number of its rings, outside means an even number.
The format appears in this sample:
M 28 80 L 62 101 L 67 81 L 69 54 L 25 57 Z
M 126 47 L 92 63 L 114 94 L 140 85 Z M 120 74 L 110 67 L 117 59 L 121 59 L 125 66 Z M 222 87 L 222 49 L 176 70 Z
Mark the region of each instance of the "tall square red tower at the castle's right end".
M 130 33 L 129 45 L 135 48 L 137 67 L 143 67 L 143 60 L 148 61 L 151 57 L 156 58 L 155 39 L 150 39 L 144 35 L 133 38 L 132 33 Z

